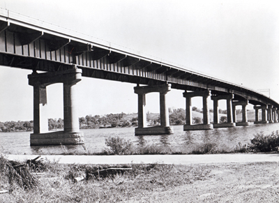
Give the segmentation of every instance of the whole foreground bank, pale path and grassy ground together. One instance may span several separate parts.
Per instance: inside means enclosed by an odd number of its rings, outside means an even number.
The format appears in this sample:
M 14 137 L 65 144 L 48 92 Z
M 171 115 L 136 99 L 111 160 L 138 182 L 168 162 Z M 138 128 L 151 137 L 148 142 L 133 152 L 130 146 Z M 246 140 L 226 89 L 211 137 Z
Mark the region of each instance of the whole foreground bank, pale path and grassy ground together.
M 0 194 L 0 202 L 279 201 L 279 154 L 274 153 L 42 157 L 56 161 L 47 164 L 38 186 L 23 190 L 1 183 L 9 193 Z M 8 155 L 8 159 L 21 161 L 29 158 L 35 156 Z M 132 170 L 72 181 L 104 167 Z

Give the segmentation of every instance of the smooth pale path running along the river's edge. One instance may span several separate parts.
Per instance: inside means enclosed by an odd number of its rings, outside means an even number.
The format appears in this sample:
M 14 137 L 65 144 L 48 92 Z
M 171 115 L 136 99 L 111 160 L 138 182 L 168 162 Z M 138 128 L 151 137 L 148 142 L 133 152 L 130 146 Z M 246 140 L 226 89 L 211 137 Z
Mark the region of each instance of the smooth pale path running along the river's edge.
M 11 155 L 9 160 L 27 160 L 37 155 Z M 195 163 L 262 163 L 279 162 L 279 153 L 228 153 L 202 155 L 133 155 L 133 156 L 63 156 L 43 155 L 43 158 L 56 160 L 59 163 L 79 164 L 129 164 L 129 163 L 165 163 L 189 165 Z

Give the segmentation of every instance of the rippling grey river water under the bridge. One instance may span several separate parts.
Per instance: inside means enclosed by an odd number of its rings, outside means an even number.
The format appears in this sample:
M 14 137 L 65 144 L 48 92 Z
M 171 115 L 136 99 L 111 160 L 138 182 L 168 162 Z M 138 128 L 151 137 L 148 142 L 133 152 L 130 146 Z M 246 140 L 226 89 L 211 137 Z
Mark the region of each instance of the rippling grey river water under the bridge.
M 265 135 L 279 130 L 279 123 L 255 124 L 252 126 L 236 126 L 235 128 L 215 128 L 213 130 L 183 131 L 183 126 L 174 126 L 173 135 L 145 135 L 135 136 L 135 128 L 102 128 L 86 129 L 84 141 L 86 150 L 90 153 L 98 153 L 105 149 L 107 137 L 123 137 L 135 145 L 165 145 L 172 149 L 187 148 L 190 144 L 203 142 L 215 142 L 234 148 L 241 144 L 250 144 L 250 140 L 257 133 Z M 61 154 L 65 151 L 82 153 L 81 145 L 68 146 L 30 146 L 29 137 L 31 132 L 0 133 L 0 152 L 10 154 Z

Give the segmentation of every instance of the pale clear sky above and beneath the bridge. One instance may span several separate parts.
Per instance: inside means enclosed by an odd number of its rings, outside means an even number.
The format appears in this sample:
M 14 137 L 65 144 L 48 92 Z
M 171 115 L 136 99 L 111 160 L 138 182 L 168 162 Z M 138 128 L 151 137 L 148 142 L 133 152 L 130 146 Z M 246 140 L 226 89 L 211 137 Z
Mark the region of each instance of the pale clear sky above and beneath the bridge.
M 279 102 L 279 3 L 276 1 L 1 0 L 1 8 L 93 36 L 130 52 L 250 89 Z M 31 70 L 0 66 L 0 121 L 33 119 Z M 83 77 L 79 116 L 137 112 L 135 84 Z M 183 91 L 167 105 L 185 108 Z M 267 93 L 268 95 L 268 93 Z M 193 100 L 199 108 L 201 98 Z M 146 110 L 159 112 L 158 93 Z M 224 101 L 220 108 L 225 109 Z M 61 84 L 47 87 L 51 118 L 63 118 Z

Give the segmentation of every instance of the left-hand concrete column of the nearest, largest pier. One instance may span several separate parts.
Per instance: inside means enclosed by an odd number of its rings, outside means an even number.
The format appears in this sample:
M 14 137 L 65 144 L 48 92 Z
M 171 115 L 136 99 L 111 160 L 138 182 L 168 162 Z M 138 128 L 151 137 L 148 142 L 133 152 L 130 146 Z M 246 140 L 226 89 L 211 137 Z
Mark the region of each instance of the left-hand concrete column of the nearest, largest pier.
M 47 89 L 40 84 L 33 86 L 33 133 L 48 131 Z

